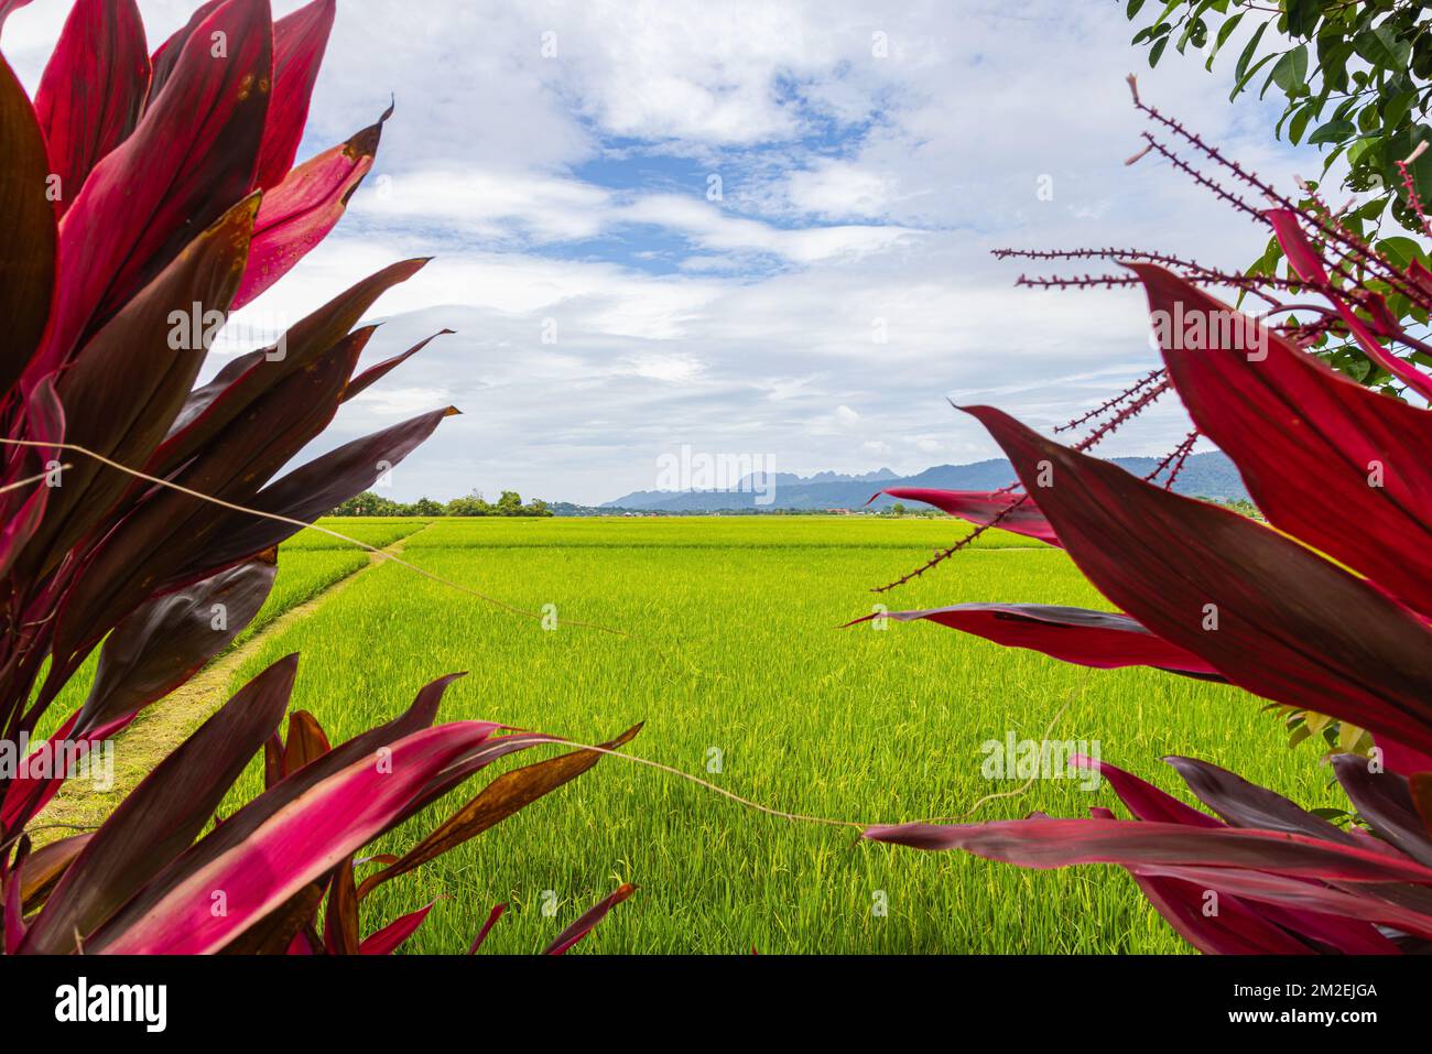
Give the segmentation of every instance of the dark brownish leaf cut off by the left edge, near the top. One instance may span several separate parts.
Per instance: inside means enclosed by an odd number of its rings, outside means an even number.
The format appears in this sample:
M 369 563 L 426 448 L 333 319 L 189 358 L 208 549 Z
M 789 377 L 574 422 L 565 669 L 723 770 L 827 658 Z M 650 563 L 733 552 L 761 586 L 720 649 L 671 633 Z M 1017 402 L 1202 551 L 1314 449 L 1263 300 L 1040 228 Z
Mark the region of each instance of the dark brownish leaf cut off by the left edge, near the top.
M 9 7 L 0 7 L 0 23 Z M 0 391 L 24 372 L 44 337 L 59 241 L 46 196 L 50 160 L 30 99 L 0 57 Z

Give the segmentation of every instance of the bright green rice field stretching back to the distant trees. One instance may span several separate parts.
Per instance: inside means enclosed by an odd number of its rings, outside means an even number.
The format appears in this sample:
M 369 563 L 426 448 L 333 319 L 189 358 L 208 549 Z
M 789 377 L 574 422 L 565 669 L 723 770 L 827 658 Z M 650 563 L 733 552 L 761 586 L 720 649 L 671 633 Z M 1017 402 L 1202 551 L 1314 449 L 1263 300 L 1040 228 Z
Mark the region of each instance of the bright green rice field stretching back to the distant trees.
M 428 680 L 465 670 L 448 689 L 445 719 L 577 742 L 646 722 L 630 753 L 829 819 L 964 816 L 1021 783 L 985 779 L 981 745 L 1011 732 L 1041 739 L 1061 709 L 1051 739 L 1098 740 L 1106 760 L 1186 801 L 1161 756 L 1213 760 L 1310 808 L 1342 803 L 1316 752 L 1289 750 L 1282 723 L 1234 689 L 1065 666 L 928 623 L 839 629 L 876 601 L 891 610 L 972 600 L 1107 607 L 1061 551 L 1014 536 L 987 536 L 876 596 L 872 586 L 964 528 L 866 517 L 325 526 L 369 544 L 402 537 L 405 560 L 507 604 L 554 606 L 546 610 L 557 619 L 544 629 L 305 531 L 281 551 L 265 617 L 319 600 L 252 640 L 232 687 L 301 652 L 294 706 L 315 713 L 335 742 L 394 716 Z M 348 573 L 342 589 L 322 593 Z M 557 749 L 498 762 L 465 790 Z M 255 765 L 226 808 L 259 786 Z M 461 801 L 434 806 L 379 848 L 411 845 Z M 1121 812 L 1107 788 L 1035 780 L 979 805 L 972 819 L 1077 816 L 1097 805 Z M 861 842 L 853 828 L 778 819 L 616 758 L 382 886 L 364 904 L 364 927 L 441 898 L 405 951 L 461 952 L 487 911 L 507 902 L 484 952 L 531 952 L 620 882 L 640 891 L 577 952 L 1184 951 L 1114 868 L 1031 872 Z

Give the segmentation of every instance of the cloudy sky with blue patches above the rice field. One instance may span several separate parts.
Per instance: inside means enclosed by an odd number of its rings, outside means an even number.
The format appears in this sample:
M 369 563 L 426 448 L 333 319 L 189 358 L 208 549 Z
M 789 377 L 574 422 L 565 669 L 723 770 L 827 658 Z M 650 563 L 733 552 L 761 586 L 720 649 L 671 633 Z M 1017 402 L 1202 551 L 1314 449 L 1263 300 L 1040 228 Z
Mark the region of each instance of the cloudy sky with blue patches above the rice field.
M 188 7 L 140 0 L 150 39 Z M 66 9 L 7 23 L 32 86 Z M 991 248 L 1262 251 L 1167 165 L 1123 165 L 1128 70 L 1264 175 L 1319 168 L 1267 107 L 1227 103 L 1221 64 L 1148 72 L 1131 32 L 1104 0 L 342 0 L 302 155 L 397 112 L 338 231 L 248 315 L 284 325 L 437 256 L 379 301 L 368 354 L 458 332 L 325 438 L 458 405 L 394 473 L 400 498 L 601 501 L 682 447 L 802 474 L 990 457 L 947 397 L 1051 427 L 1154 361 L 1136 294 L 1014 289 Z M 1108 453 L 1184 431 L 1170 402 Z

